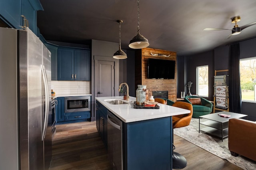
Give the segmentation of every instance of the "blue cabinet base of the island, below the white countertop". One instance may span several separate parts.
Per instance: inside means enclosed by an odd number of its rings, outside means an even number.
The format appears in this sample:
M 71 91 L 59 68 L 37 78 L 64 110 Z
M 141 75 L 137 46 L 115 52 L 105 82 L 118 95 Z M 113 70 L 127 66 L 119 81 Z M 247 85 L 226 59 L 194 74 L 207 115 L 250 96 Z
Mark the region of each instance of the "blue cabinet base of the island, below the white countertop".
M 110 138 L 106 126 L 107 108 L 96 101 L 96 124 L 104 142 Z M 122 122 L 123 170 L 172 170 L 172 117 Z M 109 150 L 116 154 L 117 150 Z M 113 152 L 113 153 L 110 153 Z M 117 156 L 117 155 L 115 155 Z M 119 164 L 120 162 L 112 162 Z

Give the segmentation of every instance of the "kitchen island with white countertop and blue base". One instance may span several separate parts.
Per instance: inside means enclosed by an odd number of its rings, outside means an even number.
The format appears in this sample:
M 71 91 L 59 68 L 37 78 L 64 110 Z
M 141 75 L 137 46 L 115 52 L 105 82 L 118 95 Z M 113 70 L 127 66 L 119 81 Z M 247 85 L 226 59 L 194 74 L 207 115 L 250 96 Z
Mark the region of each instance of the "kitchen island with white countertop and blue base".
M 122 99 L 122 96 L 96 97 L 97 128 L 113 166 L 117 170 L 172 169 L 172 116 L 190 111 L 164 104 L 158 104 L 160 109 L 135 109 L 136 98 Z M 110 104 L 108 100 L 122 100 L 124 104 Z M 113 114 L 121 122 L 120 144 L 113 145 L 112 138 L 118 136 L 113 136 L 107 114 Z M 117 152 L 118 149 L 121 151 Z

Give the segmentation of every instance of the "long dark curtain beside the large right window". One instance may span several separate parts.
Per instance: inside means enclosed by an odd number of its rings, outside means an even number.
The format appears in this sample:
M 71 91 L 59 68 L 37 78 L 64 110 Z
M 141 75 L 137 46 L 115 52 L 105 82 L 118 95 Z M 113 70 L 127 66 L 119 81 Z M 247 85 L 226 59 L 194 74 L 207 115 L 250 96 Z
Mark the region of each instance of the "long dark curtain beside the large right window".
M 242 95 L 240 86 L 240 45 L 231 44 L 229 48 L 229 110 L 240 113 Z

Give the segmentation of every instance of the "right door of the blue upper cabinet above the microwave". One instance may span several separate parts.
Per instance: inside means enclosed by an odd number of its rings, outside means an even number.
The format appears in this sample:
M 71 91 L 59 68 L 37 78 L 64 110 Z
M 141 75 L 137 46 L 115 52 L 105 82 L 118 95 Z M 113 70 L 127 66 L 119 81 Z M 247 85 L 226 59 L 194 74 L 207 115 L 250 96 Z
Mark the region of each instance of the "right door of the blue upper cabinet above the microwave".
M 90 81 L 90 51 L 74 51 L 75 80 Z

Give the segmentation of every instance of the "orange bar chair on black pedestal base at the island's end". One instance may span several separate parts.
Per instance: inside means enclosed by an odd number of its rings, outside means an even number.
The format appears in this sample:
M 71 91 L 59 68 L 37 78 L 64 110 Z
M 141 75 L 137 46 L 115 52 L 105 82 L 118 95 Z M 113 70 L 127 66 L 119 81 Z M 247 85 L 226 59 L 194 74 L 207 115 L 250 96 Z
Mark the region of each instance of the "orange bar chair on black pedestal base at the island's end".
M 172 128 L 174 129 L 174 128 L 181 128 L 184 126 L 188 126 L 190 124 L 190 121 L 193 115 L 192 104 L 187 102 L 175 102 L 172 106 L 190 110 L 190 113 L 188 114 L 172 116 Z M 174 145 L 173 145 L 173 149 L 175 149 Z M 186 166 L 187 166 L 186 158 L 177 152 L 172 152 L 172 168 L 182 169 L 182 168 L 185 168 Z

